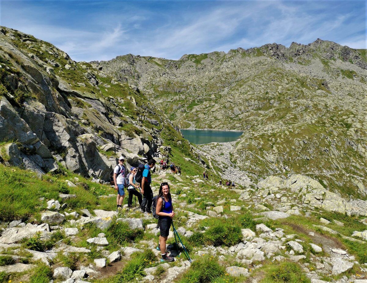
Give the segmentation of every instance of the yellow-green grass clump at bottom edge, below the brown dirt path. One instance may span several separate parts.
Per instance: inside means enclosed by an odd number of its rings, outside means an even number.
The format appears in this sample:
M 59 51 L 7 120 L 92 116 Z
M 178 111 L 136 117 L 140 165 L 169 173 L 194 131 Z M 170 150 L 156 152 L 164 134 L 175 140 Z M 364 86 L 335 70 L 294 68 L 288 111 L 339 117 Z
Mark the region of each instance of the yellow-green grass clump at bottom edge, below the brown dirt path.
M 294 262 L 281 262 L 270 264 L 264 268 L 265 277 L 261 283 L 309 283 L 301 267 Z

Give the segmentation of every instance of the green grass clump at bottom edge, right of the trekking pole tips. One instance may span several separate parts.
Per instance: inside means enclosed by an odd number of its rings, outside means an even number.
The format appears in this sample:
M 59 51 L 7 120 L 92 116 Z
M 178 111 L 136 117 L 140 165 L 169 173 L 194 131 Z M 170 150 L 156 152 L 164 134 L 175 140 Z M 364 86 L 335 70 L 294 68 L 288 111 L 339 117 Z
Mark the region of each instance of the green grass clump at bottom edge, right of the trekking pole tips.
M 224 266 L 219 265 L 218 258 L 210 255 L 195 260 L 179 283 L 215 282 L 225 274 Z

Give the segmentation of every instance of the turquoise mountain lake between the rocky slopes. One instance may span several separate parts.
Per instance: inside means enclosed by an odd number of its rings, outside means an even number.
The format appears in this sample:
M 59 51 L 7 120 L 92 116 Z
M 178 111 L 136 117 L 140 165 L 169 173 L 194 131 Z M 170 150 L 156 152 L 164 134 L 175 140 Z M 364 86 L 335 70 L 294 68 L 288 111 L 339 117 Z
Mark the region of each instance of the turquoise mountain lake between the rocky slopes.
M 238 140 L 243 132 L 232 132 L 223 130 L 180 130 L 183 137 L 190 143 L 226 143 Z

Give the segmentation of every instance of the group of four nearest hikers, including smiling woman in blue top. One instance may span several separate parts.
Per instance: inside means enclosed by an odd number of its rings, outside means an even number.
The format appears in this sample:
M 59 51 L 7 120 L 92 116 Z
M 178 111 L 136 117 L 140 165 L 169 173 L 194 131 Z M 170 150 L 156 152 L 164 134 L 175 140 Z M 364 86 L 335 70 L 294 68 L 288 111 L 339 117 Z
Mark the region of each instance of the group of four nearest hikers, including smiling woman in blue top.
M 126 168 L 124 166 L 125 158 L 121 156 L 119 158 L 119 164 L 116 165 L 113 170 L 113 185 L 117 190 L 117 209 L 119 212 L 122 209 L 122 204 L 125 198 L 125 188 L 127 188 L 129 198 L 128 198 L 128 208 L 132 208 L 132 196 L 137 196 L 140 211 L 145 214 L 152 214 L 152 203 L 156 201 L 153 205 L 155 209 L 155 218 L 158 218 L 158 226 L 160 230 L 159 245 L 157 250 L 161 252 L 163 261 L 174 261 L 173 257 L 170 257 L 166 253 L 166 241 L 168 234 L 170 232 L 170 227 L 172 224 L 172 218 L 175 216 L 172 198 L 170 194 L 170 185 L 167 182 L 160 184 L 158 196 L 153 200 L 153 191 L 150 187 L 152 183 L 152 176 L 150 169 L 152 169 L 156 161 L 154 159 L 148 160 L 145 165 L 139 165 L 138 167 L 131 167 L 130 173 L 126 175 Z M 139 191 L 138 191 L 139 190 Z M 143 196 L 143 197 L 142 197 Z

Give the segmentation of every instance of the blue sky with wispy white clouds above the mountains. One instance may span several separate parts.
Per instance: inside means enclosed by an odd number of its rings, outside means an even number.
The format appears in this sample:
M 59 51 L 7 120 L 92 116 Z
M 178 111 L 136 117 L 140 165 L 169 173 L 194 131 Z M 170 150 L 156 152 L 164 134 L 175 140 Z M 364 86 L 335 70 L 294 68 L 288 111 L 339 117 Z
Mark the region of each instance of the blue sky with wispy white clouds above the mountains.
M 0 9 L 1 25 L 76 61 L 128 53 L 178 59 L 317 38 L 367 48 L 365 1 L 0 0 Z

